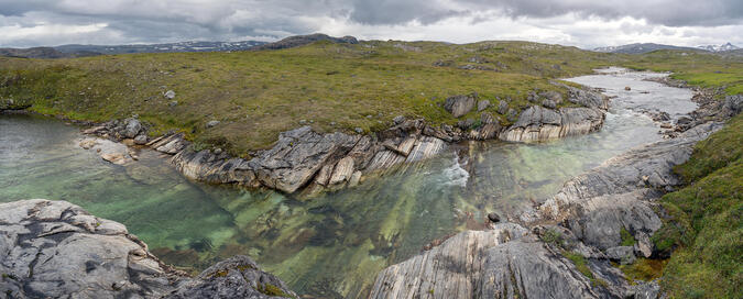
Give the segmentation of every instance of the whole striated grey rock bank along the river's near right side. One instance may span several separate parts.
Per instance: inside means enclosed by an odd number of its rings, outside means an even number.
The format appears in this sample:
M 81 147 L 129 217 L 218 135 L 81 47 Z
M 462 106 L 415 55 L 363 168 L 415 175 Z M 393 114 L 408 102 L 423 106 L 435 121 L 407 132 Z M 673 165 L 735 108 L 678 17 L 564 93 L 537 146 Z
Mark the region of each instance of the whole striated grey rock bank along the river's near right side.
M 614 157 L 566 182 L 514 223 L 462 232 L 381 272 L 371 298 L 657 298 L 657 283 L 631 285 L 614 263 L 656 257 L 655 201 L 681 182 L 673 167 L 741 111 L 737 96 L 702 104 L 692 126 Z M 704 122 L 707 121 L 707 122 Z M 518 224 L 515 224 L 518 223 Z M 634 244 L 623 246 L 622 233 Z

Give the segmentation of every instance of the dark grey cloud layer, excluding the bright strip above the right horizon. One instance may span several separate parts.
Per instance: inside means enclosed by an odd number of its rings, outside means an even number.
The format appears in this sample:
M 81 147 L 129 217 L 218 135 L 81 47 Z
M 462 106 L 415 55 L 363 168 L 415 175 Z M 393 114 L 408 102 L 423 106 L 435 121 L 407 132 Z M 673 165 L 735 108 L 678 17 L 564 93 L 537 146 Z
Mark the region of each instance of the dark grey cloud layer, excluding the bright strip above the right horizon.
M 413 21 L 425 26 L 454 16 L 468 16 L 474 25 L 493 18 L 547 22 L 564 15 L 717 26 L 741 24 L 743 0 L 0 0 L 0 27 L 14 31 L 0 36 L 0 46 L 73 43 L 81 36 L 97 43 L 280 38 L 342 25 L 404 31 Z M 90 24 L 102 26 L 95 33 L 76 27 Z M 648 29 L 637 32 L 643 30 Z

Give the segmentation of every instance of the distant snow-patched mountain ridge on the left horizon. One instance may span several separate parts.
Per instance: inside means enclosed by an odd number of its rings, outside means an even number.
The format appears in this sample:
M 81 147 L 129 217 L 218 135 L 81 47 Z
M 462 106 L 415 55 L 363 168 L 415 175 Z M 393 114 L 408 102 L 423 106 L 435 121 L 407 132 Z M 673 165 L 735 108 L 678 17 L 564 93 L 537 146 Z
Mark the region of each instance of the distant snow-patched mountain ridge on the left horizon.
M 0 48 L 0 56 L 69 58 L 103 54 L 245 51 L 265 42 L 181 42 L 150 45 L 63 45 L 55 47 Z

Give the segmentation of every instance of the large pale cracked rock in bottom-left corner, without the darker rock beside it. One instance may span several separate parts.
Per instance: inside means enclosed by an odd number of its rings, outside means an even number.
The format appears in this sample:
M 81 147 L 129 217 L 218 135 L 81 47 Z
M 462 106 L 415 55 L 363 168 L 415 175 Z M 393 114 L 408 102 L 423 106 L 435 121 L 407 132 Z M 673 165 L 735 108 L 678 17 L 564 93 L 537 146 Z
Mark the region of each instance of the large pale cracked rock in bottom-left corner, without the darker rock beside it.
M 155 298 L 182 274 L 117 222 L 66 201 L 0 204 L 0 292 L 11 298 Z

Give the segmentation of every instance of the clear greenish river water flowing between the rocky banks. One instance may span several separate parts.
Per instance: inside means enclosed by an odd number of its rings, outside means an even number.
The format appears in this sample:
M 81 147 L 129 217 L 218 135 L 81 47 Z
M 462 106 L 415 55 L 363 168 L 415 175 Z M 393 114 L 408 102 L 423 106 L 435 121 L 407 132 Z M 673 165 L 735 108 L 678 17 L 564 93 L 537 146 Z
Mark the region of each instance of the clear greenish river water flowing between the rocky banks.
M 637 111 L 678 117 L 696 108 L 689 90 L 642 80 L 660 74 L 604 73 L 570 79 L 618 97 L 600 132 L 539 144 L 465 142 L 309 199 L 193 182 L 152 151 L 111 165 L 78 146 L 78 128 L 0 115 L 0 202 L 67 200 L 125 224 L 165 262 L 194 272 L 245 254 L 306 298 L 363 297 L 379 270 L 431 241 L 482 228 L 488 212 L 531 206 L 603 160 L 658 141 L 656 124 Z

